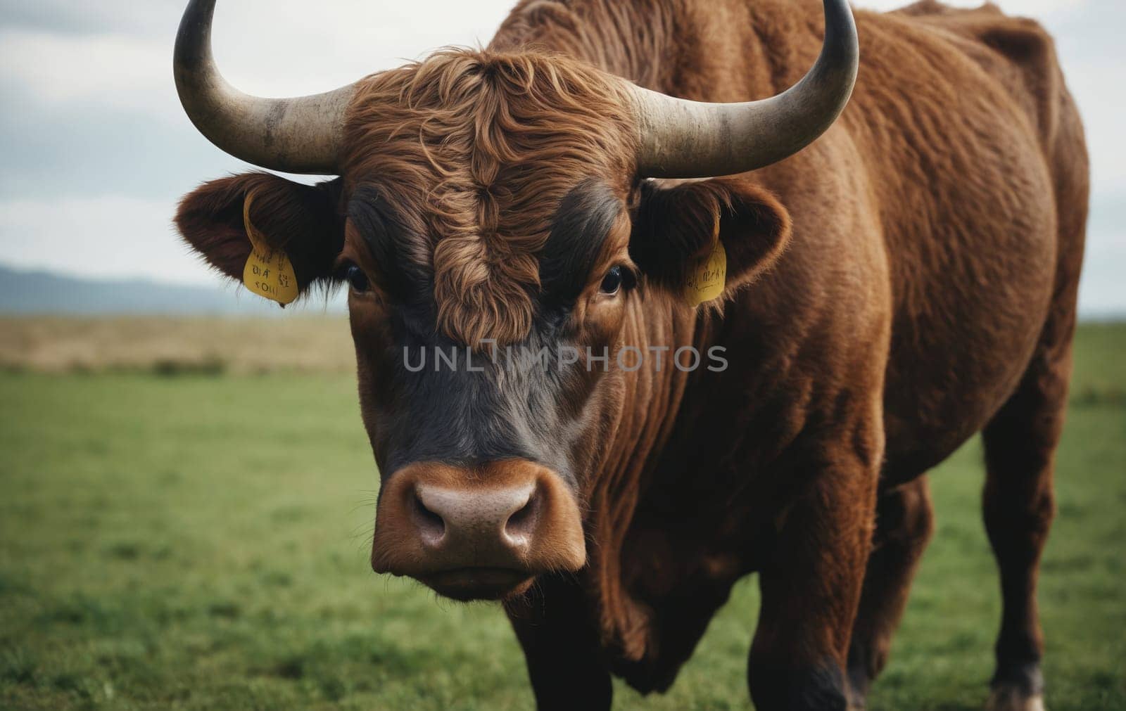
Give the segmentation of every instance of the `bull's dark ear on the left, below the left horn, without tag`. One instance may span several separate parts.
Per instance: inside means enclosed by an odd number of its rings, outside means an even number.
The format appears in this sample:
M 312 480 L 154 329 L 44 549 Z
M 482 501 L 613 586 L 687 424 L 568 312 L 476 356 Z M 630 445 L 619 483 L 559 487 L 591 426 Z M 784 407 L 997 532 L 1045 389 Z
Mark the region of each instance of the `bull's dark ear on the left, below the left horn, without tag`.
M 243 173 L 212 180 L 180 200 L 176 226 L 213 267 L 234 279 L 250 256 L 243 215 L 247 196 L 253 227 L 269 246 L 285 251 L 302 291 L 332 276 L 343 249 L 343 218 L 338 178 L 305 186 L 270 173 Z

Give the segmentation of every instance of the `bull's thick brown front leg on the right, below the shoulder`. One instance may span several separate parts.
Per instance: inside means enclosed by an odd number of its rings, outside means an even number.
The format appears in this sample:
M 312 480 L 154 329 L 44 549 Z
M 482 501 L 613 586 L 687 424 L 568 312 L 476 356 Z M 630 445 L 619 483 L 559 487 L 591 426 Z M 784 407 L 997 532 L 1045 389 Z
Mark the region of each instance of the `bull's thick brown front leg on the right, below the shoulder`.
M 783 521 L 759 570 L 762 605 L 748 664 L 759 711 L 848 708 L 844 664 L 872 541 L 876 476 L 874 466 L 824 472 Z

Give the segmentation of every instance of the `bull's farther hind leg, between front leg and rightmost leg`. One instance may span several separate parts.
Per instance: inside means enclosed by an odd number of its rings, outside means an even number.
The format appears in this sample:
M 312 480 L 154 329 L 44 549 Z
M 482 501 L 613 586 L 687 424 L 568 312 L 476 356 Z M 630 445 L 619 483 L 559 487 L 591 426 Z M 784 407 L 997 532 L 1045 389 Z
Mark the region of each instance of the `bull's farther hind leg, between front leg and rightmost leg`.
M 868 686 L 887 663 L 892 634 L 903 616 L 911 579 L 932 531 L 924 476 L 879 494 L 876 533 L 848 652 L 854 708 L 864 708 Z

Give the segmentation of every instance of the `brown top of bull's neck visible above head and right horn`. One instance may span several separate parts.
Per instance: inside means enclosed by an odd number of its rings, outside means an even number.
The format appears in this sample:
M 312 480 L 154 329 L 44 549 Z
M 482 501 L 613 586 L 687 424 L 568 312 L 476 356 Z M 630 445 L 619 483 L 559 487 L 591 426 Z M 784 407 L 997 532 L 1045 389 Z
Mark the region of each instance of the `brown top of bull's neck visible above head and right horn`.
M 802 76 L 821 16 L 820 0 L 521 0 L 489 50 L 542 48 L 646 89 L 744 101 Z

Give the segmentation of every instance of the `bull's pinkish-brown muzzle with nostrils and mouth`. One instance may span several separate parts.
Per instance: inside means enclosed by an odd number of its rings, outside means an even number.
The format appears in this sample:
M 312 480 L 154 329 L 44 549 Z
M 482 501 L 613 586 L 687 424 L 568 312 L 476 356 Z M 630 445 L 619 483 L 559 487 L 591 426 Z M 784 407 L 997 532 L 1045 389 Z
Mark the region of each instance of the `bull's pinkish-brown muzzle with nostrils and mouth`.
M 578 570 L 586 559 L 574 496 L 530 461 L 415 464 L 394 472 L 379 496 L 372 568 L 448 597 L 519 594 L 536 575 Z

